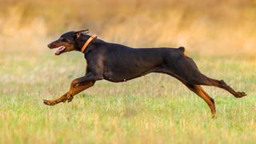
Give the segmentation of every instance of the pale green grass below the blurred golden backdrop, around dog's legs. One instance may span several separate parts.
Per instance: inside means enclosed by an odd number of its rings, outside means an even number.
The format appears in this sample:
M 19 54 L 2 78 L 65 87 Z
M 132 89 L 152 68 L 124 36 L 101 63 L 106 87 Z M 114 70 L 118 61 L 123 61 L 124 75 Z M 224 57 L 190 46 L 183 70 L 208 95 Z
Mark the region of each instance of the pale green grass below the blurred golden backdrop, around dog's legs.
M 206 75 L 249 94 L 234 98 L 204 87 L 216 102 L 212 119 L 201 98 L 164 74 L 96 82 L 70 103 L 45 106 L 43 98 L 64 94 L 86 66 L 82 54 L 51 52 L 1 52 L 0 143 L 255 142 L 255 58 L 192 54 Z

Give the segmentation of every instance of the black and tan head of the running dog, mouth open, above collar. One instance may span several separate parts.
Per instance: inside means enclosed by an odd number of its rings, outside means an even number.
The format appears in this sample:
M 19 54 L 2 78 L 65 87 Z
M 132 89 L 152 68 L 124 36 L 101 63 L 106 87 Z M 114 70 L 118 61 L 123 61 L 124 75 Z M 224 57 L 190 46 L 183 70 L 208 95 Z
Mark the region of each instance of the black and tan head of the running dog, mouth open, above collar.
M 79 30 L 79 31 L 70 31 L 65 34 L 62 34 L 60 38 L 58 38 L 54 42 L 50 42 L 48 47 L 50 49 L 58 48 L 55 52 L 55 55 L 59 55 L 62 53 L 66 53 L 73 50 L 78 50 L 77 40 L 82 34 L 87 34 L 89 30 Z

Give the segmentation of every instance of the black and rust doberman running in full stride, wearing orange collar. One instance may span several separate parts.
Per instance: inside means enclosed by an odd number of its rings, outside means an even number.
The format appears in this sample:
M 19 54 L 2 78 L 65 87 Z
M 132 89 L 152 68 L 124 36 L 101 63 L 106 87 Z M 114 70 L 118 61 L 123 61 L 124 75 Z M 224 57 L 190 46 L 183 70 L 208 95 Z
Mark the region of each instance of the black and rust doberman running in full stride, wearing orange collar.
M 233 94 L 235 98 L 246 96 L 245 92 L 233 90 L 223 80 L 206 77 L 192 58 L 184 54 L 185 48 L 131 48 L 120 44 L 104 42 L 88 30 L 70 31 L 51 42 L 50 49 L 58 48 L 56 55 L 69 51 L 81 51 L 86 58 L 86 74 L 71 82 L 70 90 L 54 100 L 43 100 L 53 106 L 59 102 L 71 102 L 75 94 L 94 86 L 96 81 L 126 82 L 150 73 L 169 74 L 177 78 L 195 94 L 198 94 L 215 115 L 214 99 L 200 85 L 217 86 Z

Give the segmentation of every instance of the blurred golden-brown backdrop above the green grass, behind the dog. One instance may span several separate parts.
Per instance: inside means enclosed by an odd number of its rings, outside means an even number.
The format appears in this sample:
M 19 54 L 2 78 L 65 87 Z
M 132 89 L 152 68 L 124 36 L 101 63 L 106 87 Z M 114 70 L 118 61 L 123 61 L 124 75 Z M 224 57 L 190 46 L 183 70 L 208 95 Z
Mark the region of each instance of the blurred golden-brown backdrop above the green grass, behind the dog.
M 42 52 L 68 30 L 134 47 L 255 57 L 255 0 L 0 0 L 0 51 Z M 0 60 L 1 62 L 1 60 Z

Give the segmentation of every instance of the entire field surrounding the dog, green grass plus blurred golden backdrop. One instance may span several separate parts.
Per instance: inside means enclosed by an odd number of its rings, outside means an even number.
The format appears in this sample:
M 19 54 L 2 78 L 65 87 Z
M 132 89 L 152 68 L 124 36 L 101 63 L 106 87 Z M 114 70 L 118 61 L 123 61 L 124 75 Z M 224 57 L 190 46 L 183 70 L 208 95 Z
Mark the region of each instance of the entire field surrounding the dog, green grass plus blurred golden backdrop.
M 255 143 L 254 0 L 0 0 L 0 144 Z M 199 69 L 248 96 L 215 87 L 217 118 L 196 94 L 164 74 L 96 82 L 70 103 L 45 106 L 85 74 L 78 52 L 46 45 L 90 29 L 127 46 L 185 46 Z

